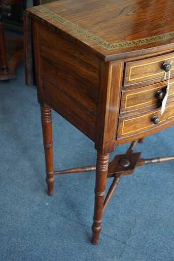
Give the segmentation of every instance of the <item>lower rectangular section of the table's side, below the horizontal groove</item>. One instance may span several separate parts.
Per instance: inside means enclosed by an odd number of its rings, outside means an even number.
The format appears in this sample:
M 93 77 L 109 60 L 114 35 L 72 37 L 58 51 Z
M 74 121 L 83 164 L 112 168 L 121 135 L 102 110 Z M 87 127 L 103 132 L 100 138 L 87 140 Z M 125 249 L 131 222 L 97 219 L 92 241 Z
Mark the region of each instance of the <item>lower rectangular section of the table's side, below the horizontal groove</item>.
M 43 97 L 47 105 L 77 127 L 88 138 L 95 141 L 96 115 L 45 77 L 43 77 Z

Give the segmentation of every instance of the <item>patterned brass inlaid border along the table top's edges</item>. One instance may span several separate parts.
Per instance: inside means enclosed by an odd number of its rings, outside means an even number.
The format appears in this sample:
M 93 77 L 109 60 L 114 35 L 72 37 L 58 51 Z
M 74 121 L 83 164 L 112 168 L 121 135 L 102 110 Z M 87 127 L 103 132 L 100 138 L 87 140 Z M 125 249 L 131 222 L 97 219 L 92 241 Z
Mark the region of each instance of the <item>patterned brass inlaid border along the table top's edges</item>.
M 58 21 L 59 23 L 65 25 L 66 27 L 71 28 L 73 31 L 78 32 L 80 35 L 88 38 L 92 42 L 100 45 L 102 48 L 104 48 L 108 51 L 132 47 L 132 46 L 136 46 L 136 45 L 139 46 L 139 45 L 154 43 L 154 42 L 158 42 L 158 41 L 162 41 L 162 40 L 170 39 L 170 38 L 174 37 L 174 31 L 171 31 L 171 32 L 168 32 L 166 34 L 161 34 L 161 35 L 157 35 L 157 36 L 152 36 L 152 37 L 137 39 L 137 40 L 133 40 L 133 41 L 125 41 L 125 42 L 111 44 L 111 43 L 101 39 L 100 37 L 92 34 L 91 32 L 85 30 L 84 28 L 78 26 L 77 24 L 75 24 L 75 23 L 63 18 L 62 16 L 50 11 L 49 9 L 47 9 L 43 6 L 35 6 L 33 8 L 37 9 L 41 13 L 46 14 L 48 17 L 51 17 L 52 19 Z

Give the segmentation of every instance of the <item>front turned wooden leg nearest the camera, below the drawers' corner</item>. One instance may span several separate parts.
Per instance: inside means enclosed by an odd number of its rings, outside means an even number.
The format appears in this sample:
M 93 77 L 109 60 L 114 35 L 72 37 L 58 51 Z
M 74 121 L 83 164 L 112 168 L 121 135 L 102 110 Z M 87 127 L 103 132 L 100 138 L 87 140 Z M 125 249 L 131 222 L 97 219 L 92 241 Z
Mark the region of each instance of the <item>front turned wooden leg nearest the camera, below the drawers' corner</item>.
M 96 163 L 96 180 L 95 180 L 95 205 L 94 217 L 92 225 L 92 243 L 97 244 L 99 240 L 99 233 L 101 231 L 101 218 L 103 210 L 103 200 L 105 196 L 105 188 L 109 166 L 109 153 L 97 153 Z

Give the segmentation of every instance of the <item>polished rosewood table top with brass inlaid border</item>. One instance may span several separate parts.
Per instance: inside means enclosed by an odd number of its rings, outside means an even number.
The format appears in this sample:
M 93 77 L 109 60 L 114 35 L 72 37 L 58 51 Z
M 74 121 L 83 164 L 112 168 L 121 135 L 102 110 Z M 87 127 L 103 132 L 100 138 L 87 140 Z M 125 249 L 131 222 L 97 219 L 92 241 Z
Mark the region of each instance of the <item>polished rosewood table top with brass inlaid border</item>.
M 29 10 L 103 56 L 174 42 L 173 0 L 59 0 Z

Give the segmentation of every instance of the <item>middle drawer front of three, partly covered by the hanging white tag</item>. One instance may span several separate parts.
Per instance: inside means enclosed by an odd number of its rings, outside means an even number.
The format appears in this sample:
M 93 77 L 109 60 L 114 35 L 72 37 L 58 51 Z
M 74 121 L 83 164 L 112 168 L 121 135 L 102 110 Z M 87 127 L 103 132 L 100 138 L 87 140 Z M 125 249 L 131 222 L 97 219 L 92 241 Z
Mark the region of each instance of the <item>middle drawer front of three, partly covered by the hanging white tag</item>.
M 145 109 L 149 106 L 152 108 L 159 107 L 162 99 L 160 99 L 159 91 L 165 93 L 167 81 L 146 87 L 136 88 L 133 90 L 125 90 L 122 92 L 121 113 L 131 112 L 137 109 Z M 170 80 L 167 103 L 174 100 L 174 80 Z

